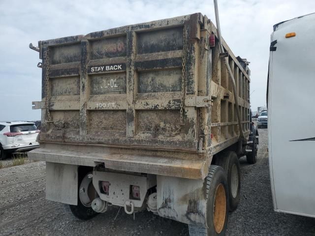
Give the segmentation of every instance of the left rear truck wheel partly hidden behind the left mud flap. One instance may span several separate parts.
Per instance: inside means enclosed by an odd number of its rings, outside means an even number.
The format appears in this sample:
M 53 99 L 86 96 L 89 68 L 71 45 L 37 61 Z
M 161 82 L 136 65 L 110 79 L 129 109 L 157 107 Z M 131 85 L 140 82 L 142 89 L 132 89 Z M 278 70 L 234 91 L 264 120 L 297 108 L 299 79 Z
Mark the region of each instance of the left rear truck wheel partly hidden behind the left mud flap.
M 78 205 L 69 205 L 72 214 L 80 220 L 89 220 L 98 213 L 92 209 L 92 201 L 97 197 L 93 186 L 92 172 L 84 173 L 79 176 L 78 184 Z

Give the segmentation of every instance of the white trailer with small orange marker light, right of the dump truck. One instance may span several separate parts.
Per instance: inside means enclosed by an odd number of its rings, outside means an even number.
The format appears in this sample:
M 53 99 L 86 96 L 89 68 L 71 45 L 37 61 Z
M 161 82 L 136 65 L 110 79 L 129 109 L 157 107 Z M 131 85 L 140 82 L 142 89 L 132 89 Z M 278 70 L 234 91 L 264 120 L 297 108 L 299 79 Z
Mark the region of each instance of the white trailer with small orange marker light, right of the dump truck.
M 314 43 L 315 14 L 274 26 L 267 91 L 274 209 L 310 217 L 315 217 Z

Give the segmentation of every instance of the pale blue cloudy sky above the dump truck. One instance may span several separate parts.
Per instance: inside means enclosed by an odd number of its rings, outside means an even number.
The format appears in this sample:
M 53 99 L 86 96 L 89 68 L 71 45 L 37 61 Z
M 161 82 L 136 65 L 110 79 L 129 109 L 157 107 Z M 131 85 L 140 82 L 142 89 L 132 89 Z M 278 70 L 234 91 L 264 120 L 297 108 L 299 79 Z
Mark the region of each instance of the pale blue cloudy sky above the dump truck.
M 315 0 L 218 0 L 222 36 L 251 64 L 252 111 L 266 104 L 270 33 L 278 22 L 315 12 Z M 0 0 L 0 120 L 40 119 L 38 53 L 29 43 L 201 12 L 208 0 Z

